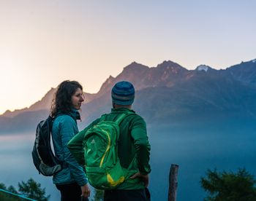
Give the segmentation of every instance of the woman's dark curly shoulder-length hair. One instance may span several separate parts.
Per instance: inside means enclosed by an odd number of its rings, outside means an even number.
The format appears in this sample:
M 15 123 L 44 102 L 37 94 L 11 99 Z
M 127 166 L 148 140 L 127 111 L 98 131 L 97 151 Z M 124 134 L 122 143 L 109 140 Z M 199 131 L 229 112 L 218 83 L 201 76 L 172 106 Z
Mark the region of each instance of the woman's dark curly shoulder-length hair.
M 59 84 L 50 108 L 51 117 L 55 117 L 59 111 L 65 113 L 71 110 L 71 98 L 72 95 L 75 94 L 75 91 L 78 90 L 78 88 L 83 91 L 82 85 L 76 81 L 65 80 Z

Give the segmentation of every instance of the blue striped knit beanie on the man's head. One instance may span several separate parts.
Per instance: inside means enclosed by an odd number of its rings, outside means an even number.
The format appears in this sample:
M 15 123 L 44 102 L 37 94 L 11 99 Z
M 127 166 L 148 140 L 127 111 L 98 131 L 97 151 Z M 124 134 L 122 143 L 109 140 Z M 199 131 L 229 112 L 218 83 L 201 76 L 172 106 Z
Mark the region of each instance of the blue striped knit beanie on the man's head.
M 129 106 L 132 105 L 135 99 L 135 88 L 130 82 L 117 82 L 112 88 L 111 96 L 113 103 L 121 106 Z

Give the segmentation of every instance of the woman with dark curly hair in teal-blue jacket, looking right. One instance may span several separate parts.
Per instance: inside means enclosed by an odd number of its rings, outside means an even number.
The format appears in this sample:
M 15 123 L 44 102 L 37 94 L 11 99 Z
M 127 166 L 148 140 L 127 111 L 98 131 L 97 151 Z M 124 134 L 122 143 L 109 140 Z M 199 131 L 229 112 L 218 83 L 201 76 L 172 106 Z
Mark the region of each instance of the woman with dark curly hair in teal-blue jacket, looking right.
M 59 84 L 51 106 L 53 147 L 56 157 L 63 162 L 63 169 L 53 176 L 53 184 L 61 192 L 61 201 L 80 201 L 90 195 L 83 167 L 67 149 L 69 140 L 78 133 L 76 121 L 80 119 L 78 110 L 83 101 L 83 87 L 67 80 Z

